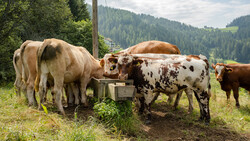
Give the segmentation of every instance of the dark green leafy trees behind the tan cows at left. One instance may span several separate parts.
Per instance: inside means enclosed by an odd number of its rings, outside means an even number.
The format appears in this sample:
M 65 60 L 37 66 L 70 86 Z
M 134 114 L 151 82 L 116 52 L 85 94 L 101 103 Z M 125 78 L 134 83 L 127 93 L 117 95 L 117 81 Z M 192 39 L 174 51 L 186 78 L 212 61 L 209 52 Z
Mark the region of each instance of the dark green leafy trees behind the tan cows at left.
M 47 38 L 62 39 L 92 53 L 92 22 L 85 1 L 0 1 L 0 84 L 14 81 L 12 58 L 24 41 Z M 99 35 L 99 56 L 109 51 L 103 39 Z

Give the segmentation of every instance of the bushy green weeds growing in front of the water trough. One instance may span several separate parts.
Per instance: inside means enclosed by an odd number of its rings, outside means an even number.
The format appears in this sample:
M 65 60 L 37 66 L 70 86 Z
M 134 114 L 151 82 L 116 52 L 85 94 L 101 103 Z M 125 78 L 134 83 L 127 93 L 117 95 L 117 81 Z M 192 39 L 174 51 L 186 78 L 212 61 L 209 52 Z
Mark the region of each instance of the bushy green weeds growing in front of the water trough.
M 106 98 L 95 104 L 94 111 L 115 134 L 136 135 L 140 132 L 141 122 L 133 114 L 130 101 L 116 102 Z

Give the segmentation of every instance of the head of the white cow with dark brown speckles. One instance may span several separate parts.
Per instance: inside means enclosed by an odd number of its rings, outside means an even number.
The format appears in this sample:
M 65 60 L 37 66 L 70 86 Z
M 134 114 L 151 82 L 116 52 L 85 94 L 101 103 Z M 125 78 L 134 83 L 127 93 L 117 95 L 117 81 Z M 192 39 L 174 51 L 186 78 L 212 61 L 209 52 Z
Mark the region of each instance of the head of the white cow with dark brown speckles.
M 132 55 L 122 54 L 118 57 L 118 71 L 120 80 L 127 80 L 131 75 L 134 65 L 140 65 L 143 60 L 138 57 L 133 57 Z

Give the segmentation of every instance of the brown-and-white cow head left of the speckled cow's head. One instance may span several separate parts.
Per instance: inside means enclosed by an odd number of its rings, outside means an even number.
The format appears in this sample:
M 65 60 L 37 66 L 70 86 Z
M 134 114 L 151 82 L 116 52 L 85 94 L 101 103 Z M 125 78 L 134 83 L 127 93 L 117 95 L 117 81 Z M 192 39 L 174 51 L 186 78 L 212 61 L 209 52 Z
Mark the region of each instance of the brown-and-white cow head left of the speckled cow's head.
M 101 65 L 104 69 L 104 76 L 108 78 L 118 78 L 118 66 L 117 59 L 118 57 L 112 54 L 106 54 L 101 60 Z

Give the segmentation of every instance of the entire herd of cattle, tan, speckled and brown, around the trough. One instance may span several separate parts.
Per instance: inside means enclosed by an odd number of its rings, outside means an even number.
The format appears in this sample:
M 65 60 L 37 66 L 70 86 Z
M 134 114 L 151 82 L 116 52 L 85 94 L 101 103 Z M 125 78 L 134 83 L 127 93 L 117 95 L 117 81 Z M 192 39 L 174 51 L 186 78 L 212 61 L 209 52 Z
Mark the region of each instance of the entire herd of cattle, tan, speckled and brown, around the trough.
M 189 100 L 189 112 L 193 110 L 193 93 L 199 103 L 200 120 L 210 122 L 209 63 L 203 55 L 180 55 L 177 46 L 161 41 L 146 41 L 129 47 L 116 54 L 106 54 L 95 59 L 84 47 L 77 47 L 59 39 L 25 41 L 14 53 L 16 71 L 16 93 L 21 91 L 28 99 L 29 106 L 46 101 L 51 89 L 53 102 L 65 115 L 62 106 L 63 92 L 67 104 L 88 105 L 86 89 L 92 78 L 133 79 L 137 90 L 135 101 L 140 113 L 151 120 L 150 107 L 160 93 L 169 96 L 174 107 L 178 106 L 182 92 Z M 239 107 L 238 91 L 243 87 L 250 91 L 250 64 L 212 64 L 216 79 L 227 99 L 233 90 L 236 106 Z M 35 91 L 39 92 L 37 104 Z

